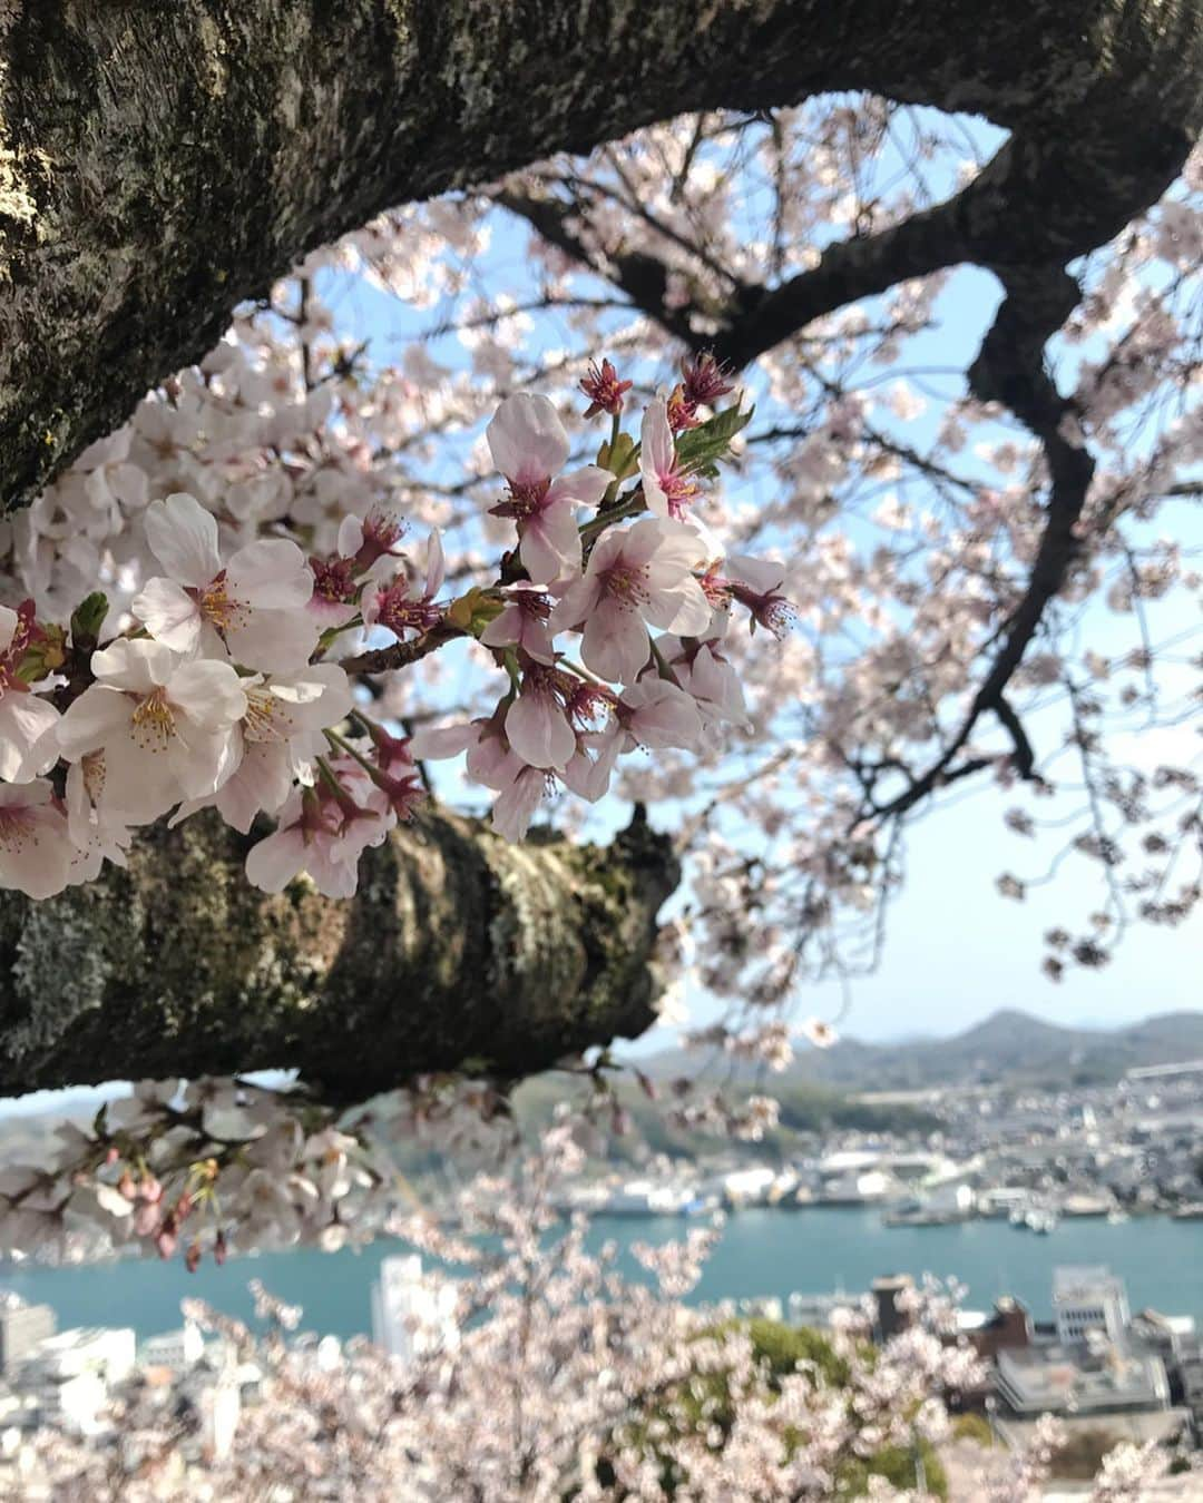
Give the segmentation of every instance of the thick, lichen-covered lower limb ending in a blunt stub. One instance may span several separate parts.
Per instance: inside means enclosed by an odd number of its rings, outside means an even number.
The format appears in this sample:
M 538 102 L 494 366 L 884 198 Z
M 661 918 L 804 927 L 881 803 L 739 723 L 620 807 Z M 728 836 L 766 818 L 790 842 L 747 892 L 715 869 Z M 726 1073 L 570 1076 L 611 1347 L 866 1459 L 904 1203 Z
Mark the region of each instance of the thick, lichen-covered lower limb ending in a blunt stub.
M 519 1078 L 653 1021 L 678 867 L 641 815 L 598 849 L 427 810 L 347 902 L 307 878 L 256 891 L 245 848 L 197 816 L 128 872 L 0 893 L 0 1094 L 290 1066 L 350 1102 L 426 1072 Z

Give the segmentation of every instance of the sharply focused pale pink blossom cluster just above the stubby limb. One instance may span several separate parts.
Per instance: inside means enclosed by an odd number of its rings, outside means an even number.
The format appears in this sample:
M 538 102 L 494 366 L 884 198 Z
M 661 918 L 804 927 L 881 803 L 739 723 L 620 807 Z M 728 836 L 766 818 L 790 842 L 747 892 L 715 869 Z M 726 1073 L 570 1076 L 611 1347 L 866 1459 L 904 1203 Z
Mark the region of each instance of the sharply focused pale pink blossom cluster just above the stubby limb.
M 247 857 L 254 885 L 278 893 L 305 872 L 347 897 L 361 854 L 421 803 L 421 761 L 466 752 L 496 795 L 495 828 L 520 839 L 555 786 L 595 803 L 623 753 L 701 752 L 744 724 L 723 636 L 732 609 L 785 630 L 783 571 L 725 558 L 690 502 L 746 416 L 704 419 L 731 388 L 713 361 L 692 362 L 648 403 L 636 443 L 620 421 L 629 383 L 603 371 L 583 385 L 612 416 L 605 463 L 567 469 L 549 398 L 498 407 L 487 442 L 505 493 L 490 511 L 513 547 L 492 586 L 459 598 L 438 529 L 418 573 L 395 508 L 347 510 L 313 552 L 326 529 L 271 496 L 152 496 L 129 458 L 102 457 L 89 476 L 104 476 L 110 526 L 141 540 L 138 588 L 116 613 L 90 594 L 68 624 L 33 598 L 0 606 L 0 885 L 48 897 L 125 864 L 138 827 L 212 807 L 242 834 L 275 822 Z M 364 672 L 457 639 L 502 676 L 492 711 L 395 733 L 356 688 Z M 349 651 L 371 642 L 383 646 Z

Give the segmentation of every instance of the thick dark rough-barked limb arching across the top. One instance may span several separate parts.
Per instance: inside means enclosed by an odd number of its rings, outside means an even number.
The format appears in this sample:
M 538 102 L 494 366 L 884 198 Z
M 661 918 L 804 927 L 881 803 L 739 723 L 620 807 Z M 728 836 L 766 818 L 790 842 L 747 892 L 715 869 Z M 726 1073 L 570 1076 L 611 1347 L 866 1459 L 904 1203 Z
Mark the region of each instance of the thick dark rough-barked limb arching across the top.
M 1063 265 L 1180 165 L 1201 54 L 1197 0 L 3 0 L 0 511 L 389 204 L 684 110 L 871 89 L 1014 131 L 982 222 L 920 216 L 871 280 Z M 829 271 L 820 304 L 859 295 Z

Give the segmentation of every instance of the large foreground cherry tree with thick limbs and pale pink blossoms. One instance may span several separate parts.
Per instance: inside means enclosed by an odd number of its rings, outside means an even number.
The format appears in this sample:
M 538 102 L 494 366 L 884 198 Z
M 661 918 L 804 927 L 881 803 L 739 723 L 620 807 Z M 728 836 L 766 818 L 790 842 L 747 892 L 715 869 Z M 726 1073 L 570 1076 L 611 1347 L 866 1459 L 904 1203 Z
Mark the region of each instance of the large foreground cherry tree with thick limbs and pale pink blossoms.
M 1198 902 L 1195 9 L 343 11 L 0 12 L 0 1090 L 143 1079 L 11 1246 L 371 1235 L 699 987 L 782 1067 L 977 786 L 1051 975 Z

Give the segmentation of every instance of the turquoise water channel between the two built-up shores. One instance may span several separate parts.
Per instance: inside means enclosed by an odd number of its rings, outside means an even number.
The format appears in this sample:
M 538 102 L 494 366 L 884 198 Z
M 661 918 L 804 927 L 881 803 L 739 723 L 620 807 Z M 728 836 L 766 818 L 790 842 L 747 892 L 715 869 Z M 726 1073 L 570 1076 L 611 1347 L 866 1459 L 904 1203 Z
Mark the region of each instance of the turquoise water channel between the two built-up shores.
M 609 1237 L 623 1243 L 621 1266 L 636 1273 L 627 1243 L 668 1241 L 686 1225 L 671 1217 L 598 1219 L 591 1238 L 594 1246 Z M 186 1296 L 250 1318 L 247 1284 L 257 1278 L 280 1299 L 304 1306 L 304 1329 L 352 1336 L 370 1330 L 368 1290 L 380 1260 L 397 1250 L 398 1243 L 379 1241 L 359 1254 L 262 1254 L 232 1258 L 221 1269 L 205 1263 L 194 1275 L 179 1260 L 23 1269 L 0 1275 L 0 1287 L 53 1305 L 60 1327 L 132 1326 L 141 1338 L 177 1326 L 179 1302 Z M 997 1294 L 1015 1294 L 1038 1317 L 1047 1317 L 1053 1269 L 1066 1263 L 1110 1264 L 1126 1279 L 1132 1309 L 1152 1305 L 1203 1318 L 1203 1222 L 1162 1217 L 1117 1226 L 1068 1220 L 1050 1237 L 1036 1237 L 1006 1222 L 884 1228 L 877 1211 L 862 1208 L 744 1210 L 729 1217 L 693 1297 L 785 1299 L 791 1290 L 814 1294 L 836 1287 L 859 1293 L 881 1273 L 934 1273 L 967 1284 L 970 1308 L 988 1306 Z

